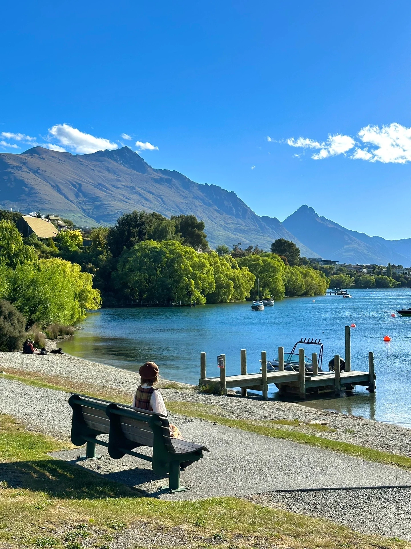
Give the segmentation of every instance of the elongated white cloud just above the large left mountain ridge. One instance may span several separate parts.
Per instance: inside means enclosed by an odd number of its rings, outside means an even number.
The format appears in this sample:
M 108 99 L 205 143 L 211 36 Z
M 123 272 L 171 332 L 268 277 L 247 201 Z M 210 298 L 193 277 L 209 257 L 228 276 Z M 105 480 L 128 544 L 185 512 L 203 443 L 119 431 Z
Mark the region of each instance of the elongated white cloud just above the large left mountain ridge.
M 118 149 L 118 145 L 112 143 L 109 139 L 83 133 L 68 124 L 56 124 L 49 129 L 49 135 L 50 139 L 53 136 L 60 143 L 59 147 L 64 145 L 64 147 L 79 154 L 95 153 L 96 150 Z

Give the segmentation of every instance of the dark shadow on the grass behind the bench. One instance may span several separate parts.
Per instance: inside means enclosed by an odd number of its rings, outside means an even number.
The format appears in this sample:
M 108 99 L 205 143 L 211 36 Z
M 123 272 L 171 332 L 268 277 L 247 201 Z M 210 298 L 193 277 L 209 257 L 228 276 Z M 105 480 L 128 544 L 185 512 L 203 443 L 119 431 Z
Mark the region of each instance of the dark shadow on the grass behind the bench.
M 115 479 L 107 479 L 82 467 L 53 459 L 2 463 L 0 481 L 6 483 L 8 488 L 45 492 L 50 497 L 61 499 L 93 500 L 145 495 L 141 490 L 119 484 Z

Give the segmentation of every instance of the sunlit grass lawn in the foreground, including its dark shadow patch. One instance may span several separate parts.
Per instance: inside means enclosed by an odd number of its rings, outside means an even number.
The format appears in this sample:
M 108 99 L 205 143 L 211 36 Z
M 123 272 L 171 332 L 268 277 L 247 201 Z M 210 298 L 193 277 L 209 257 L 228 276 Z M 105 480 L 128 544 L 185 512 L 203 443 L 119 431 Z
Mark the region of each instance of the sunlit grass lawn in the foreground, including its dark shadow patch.
M 164 536 L 174 536 L 175 549 L 411 547 L 234 497 L 195 502 L 140 497 L 132 488 L 48 455 L 67 446 L 0 415 L 1 547 L 105 549 L 126 531 L 149 532 L 153 541 L 159 540 L 152 547 L 162 547 Z

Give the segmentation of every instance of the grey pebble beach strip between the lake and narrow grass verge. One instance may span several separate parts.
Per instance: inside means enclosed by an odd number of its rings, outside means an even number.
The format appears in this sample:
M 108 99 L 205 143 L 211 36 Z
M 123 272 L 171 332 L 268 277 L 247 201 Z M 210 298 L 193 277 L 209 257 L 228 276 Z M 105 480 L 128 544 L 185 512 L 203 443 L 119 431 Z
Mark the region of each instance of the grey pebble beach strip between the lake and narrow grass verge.
M 126 393 L 130 402 L 139 376 L 120 368 L 90 362 L 71 355 L 25 355 L 22 353 L 0 352 L 0 369 L 12 372 L 43 372 L 46 376 L 56 376 L 78 383 L 88 384 L 90 388 L 113 389 Z M 163 380 L 167 387 L 169 382 Z M 411 457 L 411 430 L 397 425 L 375 422 L 356 416 L 346 416 L 338 412 L 301 406 L 292 402 L 262 401 L 260 397 L 247 399 L 231 396 L 198 393 L 192 385 L 176 384 L 177 389 L 162 389 L 165 400 L 185 401 L 212 406 L 215 413 L 233 419 L 286 419 L 300 422 L 298 427 L 282 426 L 284 429 L 299 430 L 318 434 L 324 438 L 350 442 L 376 450 L 398 453 Z M 213 411 L 212 410 L 212 411 Z M 317 432 L 316 424 L 326 425 L 324 431 Z

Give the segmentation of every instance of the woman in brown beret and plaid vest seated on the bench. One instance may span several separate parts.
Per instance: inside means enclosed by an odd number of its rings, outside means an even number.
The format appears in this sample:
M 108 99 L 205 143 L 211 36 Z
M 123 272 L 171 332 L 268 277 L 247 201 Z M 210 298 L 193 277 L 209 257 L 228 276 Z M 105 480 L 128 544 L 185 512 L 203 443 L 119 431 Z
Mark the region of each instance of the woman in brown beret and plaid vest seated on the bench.
M 167 417 L 163 397 L 155 385 L 158 383 L 158 366 L 155 362 L 145 362 L 139 369 L 140 385 L 135 393 L 132 406 L 159 413 Z M 170 423 L 170 437 L 184 440 L 175 425 Z

